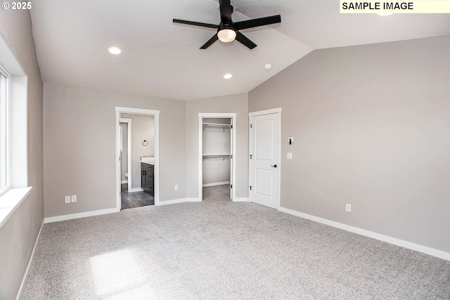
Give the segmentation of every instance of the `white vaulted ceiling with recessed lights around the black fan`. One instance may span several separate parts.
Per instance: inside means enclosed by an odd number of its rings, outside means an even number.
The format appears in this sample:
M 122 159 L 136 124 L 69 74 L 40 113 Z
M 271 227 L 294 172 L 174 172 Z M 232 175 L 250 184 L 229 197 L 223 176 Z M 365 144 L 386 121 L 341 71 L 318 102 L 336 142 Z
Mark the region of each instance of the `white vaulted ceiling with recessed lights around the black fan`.
M 237 41 L 200 46 L 215 30 L 173 18 L 220 22 L 214 0 L 41 0 L 32 16 L 46 82 L 191 100 L 245 93 L 317 48 L 450 34 L 450 14 L 340 14 L 338 0 L 231 0 L 233 21 L 281 15 Z M 123 53 L 113 56 L 109 46 Z M 273 68 L 264 70 L 264 64 Z M 233 78 L 224 79 L 226 73 Z

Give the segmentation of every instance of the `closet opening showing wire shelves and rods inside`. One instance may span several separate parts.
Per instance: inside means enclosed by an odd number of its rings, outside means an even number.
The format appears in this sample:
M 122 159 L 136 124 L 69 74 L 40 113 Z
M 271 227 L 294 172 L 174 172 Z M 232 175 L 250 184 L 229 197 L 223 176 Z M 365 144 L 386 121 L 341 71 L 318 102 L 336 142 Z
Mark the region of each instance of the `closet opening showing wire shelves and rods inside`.
M 236 114 L 199 114 L 200 200 L 236 196 Z

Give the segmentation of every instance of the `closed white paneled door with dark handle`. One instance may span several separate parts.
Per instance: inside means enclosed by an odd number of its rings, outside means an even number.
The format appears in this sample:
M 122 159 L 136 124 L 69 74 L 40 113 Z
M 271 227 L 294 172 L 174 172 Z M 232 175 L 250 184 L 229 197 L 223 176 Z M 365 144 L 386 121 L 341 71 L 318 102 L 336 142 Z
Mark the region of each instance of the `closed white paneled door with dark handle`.
M 278 208 L 279 115 L 252 117 L 250 148 L 250 200 Z

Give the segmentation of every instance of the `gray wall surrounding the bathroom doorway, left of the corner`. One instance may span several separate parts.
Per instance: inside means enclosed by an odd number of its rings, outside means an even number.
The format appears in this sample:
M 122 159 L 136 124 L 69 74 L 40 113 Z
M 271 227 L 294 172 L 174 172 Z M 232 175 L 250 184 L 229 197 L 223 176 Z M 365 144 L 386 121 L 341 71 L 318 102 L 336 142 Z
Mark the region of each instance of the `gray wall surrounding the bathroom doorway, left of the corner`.
M 46 217 L 116 207 L 115 106 L 160 110 L 160 200 L 186 197 L 185 101 L 44 83 Z

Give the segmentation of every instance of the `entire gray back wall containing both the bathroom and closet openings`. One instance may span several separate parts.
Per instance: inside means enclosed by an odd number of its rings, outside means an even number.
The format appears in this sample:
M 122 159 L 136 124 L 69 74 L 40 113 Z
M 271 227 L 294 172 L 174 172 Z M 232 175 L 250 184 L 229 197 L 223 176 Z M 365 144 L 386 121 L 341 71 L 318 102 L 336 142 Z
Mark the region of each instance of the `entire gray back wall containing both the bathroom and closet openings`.
M 186 102 L 44 83 L 46 217 L 116 206 L 115 106 L 160 110 L 161 201 L 198 197 L 198 112 L 236 112 L 236 197 L 248 197 L 247 94 Z

